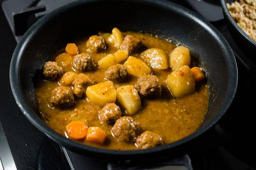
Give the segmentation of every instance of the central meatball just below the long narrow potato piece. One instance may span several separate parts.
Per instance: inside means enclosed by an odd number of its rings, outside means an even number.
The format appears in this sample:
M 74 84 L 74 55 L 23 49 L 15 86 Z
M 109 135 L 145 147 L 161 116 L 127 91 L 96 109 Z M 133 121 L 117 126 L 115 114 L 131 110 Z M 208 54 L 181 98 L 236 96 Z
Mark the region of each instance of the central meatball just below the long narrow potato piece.
M 128 72 L 125 65 L 116 64 L 105 71 L 105 78 L 111 81 L 122 81 L 127 76 Z

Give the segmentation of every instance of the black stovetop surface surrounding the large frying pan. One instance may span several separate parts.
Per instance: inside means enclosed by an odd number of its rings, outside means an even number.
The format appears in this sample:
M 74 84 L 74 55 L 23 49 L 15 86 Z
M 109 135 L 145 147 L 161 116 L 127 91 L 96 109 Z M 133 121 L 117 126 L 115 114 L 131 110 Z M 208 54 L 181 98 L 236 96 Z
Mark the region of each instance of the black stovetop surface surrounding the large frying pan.
M 6 3 L 9 1 L 9 3 Z M 33 19 L 40 18 L 52 9 L 73 0 L 0 0 L 0 75 L 2 78 L 0 97 L 0 170 L 94 170 L 107 169 L 107 163 L 97 162 L 90 157 L 81 157 L 66 150 L 34 127 L 18 108 L 9 82 L 9 65 L 12 53 L 20 36 L 14 36 L 13 20 L 7 19 L 12 10 L 25 9 L 33 2 L 46 5 L 46 11 Z M 239 50 L 225 26 L 220 6 L 212 0 L 170 0 L 192 9 L 207 18 L 229 42 L 236 56 L 239 69 L 239 84 L 230 109 L 214 129 L 208 133 L 212 139 L 205 140 L 209 148 L 204 153 L 190 156 L 195 170 L 255 170 L 256 153 L 253 130 L 256 95 L 256 65 Z M 211 1 L 211 2 L 210 2 Z M 20 3 L 21 2 L 21 3 Z M 50 3 L 54 2 L 54 6 Z M 210 3 L 209 3 L 210 2 Z M 20 3 L 20 4 L 19 4 Z M 17 6 L 17 4 L 19 4 Z M 27 5 L 29 4 L 29 5 Z M 33 3 L 32 5 L 35 5 Z M 32 5 L 30 7 L 32 7 Z M 211 5 L 211 7 L 206 6 Z M 207 9 L 207 10 L 206 10 Z M 44 10 L 43 6 L 32 10 Z M 10 27 L 10 25 L 12 25 Z M 19 27 L 18 27 L 19 28 Z M 216 136 L 216 137 L 215 137 Z M 216 140 L 214 140 L 216 138 Z M 212 144 L 214 143 L 214 144 Z M 176 170 L 173 168 L 173 170 Z

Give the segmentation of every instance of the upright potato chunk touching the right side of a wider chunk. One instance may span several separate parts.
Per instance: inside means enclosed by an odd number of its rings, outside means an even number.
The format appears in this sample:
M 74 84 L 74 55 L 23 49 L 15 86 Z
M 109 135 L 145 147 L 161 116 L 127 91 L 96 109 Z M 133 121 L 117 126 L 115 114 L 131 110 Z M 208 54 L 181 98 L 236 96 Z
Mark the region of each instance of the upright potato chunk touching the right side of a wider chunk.
M 140 96 L 133 85 L 125 85 L 117 88 L 116 97 L 117 101 L 126 109 L 128 114 L 134 114 L 140 110 Z

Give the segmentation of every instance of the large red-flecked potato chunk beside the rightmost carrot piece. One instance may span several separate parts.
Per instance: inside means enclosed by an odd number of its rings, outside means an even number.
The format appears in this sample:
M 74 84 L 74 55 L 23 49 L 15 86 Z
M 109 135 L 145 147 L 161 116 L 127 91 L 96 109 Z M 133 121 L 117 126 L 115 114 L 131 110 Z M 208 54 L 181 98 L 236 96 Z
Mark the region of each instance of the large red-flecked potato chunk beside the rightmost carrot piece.
M 182 97 L 195 91 L 195 80 L 187 65 L 173 71 L 167 77 L 166 82 L 175 97 Z

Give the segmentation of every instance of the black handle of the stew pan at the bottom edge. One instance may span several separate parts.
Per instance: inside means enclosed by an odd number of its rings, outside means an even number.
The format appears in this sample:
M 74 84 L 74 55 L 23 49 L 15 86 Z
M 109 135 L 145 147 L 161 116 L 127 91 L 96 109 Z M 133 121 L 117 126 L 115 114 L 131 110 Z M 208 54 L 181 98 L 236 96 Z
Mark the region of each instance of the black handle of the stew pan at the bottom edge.
M 170 161 L 164 161 L 151 164 L 150 161 L 140 164 L 108 164 L 108 170 L 193 170 L 191 160 L 187 154 L 172 159 Z

